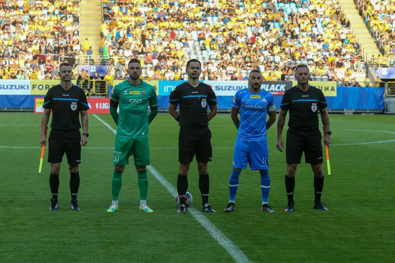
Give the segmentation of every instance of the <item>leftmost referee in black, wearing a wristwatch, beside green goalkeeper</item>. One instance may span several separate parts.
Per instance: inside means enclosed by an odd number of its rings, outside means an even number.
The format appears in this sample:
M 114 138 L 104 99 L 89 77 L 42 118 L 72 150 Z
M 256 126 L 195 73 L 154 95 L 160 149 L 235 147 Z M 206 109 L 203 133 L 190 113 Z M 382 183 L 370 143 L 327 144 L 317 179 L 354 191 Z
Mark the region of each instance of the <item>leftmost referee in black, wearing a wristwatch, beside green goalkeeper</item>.
M 51 175 L 49 176 L 49 186 L 51 187 L 52 198 L 49 210 L 58 209 L 58 188 L 60 164 L 64 153 L 67 156 L 67 163 L 70 170 L 70 209 L 79 211 L 77 204 L 77 194 L 79 188 L 78 165 L 81 163 L 81 145 L 88 142 L 88 112 L 87 96 L 84 91 L 71 83 L 73 67 L 69 63 L 62 63 L 59 66 L 60 84 L 50 88 L 44 98 L 44 112 L 41 118 L 40 144 L 46 144 L 44 136 L 45 128 L 48 125 L 49 115 L 52 110 L 51 134 L 48 142 L 48 162 L 51 163 Z M 81 112 L 81 123 L 83 135 L 81 137 L 79 129 L 79 114 Z

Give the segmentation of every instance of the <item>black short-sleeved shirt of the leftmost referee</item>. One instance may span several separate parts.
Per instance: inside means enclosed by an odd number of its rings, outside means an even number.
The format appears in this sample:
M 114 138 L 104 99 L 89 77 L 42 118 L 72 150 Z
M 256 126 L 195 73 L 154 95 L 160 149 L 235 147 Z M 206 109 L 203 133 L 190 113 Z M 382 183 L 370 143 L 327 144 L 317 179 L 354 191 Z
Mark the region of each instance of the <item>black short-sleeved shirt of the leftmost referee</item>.
M 81 128 L 79 112 L 88 110 L 87 96 L 79 87 L 64 90 L 56 85 L 45 95 L 43 108 L 52 109 L 51 128 L 59 131 L 76 131 Z

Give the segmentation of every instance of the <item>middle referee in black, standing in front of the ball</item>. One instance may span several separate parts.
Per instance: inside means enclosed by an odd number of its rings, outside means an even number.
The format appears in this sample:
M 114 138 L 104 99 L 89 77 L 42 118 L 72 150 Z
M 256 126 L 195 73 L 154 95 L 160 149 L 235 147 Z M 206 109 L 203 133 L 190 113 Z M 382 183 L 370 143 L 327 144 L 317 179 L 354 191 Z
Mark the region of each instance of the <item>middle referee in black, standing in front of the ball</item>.
M 212 159 L 211 131 L 209 121 L 217 114 L 217 98 L 213 89 L 203 82 L 199 82 L 201 63 L 192 59 L 186 63 L 188 81 L 175 87 L 169 97 L 169 113 L 180 124 L 179 134 L 179 162 L 180 168 L 177 178 L 177 192 L 180 205 L 177 213 L 185 214 L 185 194 L 188 189 L 188 171 L 190 163 L 196 155 L 199 171 L 199 190 L 202 198 L 202 210 L 215 213 L 209 205 L 209 173 L 207 162 Z M 180 105 L 180 113 L 177 112 Z M 207 113 L 207 105 L 210 112 Z

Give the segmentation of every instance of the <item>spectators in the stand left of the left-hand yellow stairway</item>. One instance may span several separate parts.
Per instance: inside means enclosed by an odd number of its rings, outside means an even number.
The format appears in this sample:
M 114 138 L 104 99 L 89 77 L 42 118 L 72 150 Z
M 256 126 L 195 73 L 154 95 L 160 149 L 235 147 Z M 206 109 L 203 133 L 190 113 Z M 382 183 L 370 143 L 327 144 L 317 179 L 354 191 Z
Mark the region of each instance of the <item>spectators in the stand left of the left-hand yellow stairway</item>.
M 2 79 L 58 79 L 59 57 L 79 51 L 78 0 L 0 0 Z

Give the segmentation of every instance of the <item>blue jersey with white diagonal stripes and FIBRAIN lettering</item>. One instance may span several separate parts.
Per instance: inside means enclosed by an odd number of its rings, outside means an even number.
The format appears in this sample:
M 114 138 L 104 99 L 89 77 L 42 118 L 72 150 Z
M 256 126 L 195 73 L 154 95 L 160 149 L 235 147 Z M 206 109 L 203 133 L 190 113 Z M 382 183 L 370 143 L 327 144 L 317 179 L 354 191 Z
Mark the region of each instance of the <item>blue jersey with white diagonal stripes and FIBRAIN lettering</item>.
M 266 139 L 267 112 L 276 110 L 271 93 L 261 90 L 253 93 L 248 88 L 236 92 L 232 107 L 240 111 L 240 125 L 237 139 L 248 142 L 261 142 Z

